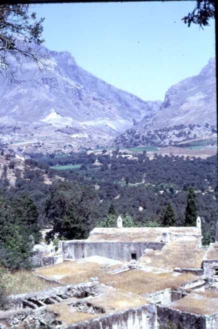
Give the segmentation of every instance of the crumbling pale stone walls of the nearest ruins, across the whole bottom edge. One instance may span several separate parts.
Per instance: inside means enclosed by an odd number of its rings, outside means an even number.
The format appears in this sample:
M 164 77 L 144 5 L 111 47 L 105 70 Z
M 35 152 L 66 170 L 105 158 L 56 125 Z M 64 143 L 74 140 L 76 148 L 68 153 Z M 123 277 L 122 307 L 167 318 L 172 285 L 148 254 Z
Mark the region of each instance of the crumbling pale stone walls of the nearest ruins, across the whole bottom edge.
M 9 310 L 0 313 L 0 329 L 214 329 L 218 314 L 196 315 L 181 312 L 170 307 L 191 291 L 210 287 L 209 280 L 197 279 L 174 289 L 164 289 L 146 294 L 147 304 L 128 308 L 120 312 L 106 313 L 103 307 L 95 304 L 94 298 L 111 289 L 99 284 L 97 278 L 77 285 L 60 286 L 46 291 L 10 296 Z M 218 291 L 218 281 L 212 280 L 213 289 Z M 117 292 L 118 293 L 118 292 Z M 126 292 L 127 294 L 127 292 Z M 90 297 L 93 299 L 90 300 Z M 67 326 L 58 310 L 49 309 L 52 304 L 65 302 L 70 313 L 88 313 L 94 316 Z

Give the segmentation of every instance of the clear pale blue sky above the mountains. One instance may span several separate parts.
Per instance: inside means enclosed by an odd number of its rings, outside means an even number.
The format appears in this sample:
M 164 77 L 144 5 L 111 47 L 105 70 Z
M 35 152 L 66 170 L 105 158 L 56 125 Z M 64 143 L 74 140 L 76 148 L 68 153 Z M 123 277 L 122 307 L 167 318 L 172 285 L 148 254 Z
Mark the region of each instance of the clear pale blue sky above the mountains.
M 44 45 L 69 51 L 76 63 L 143 100 L 196 75 L 215 56 L 214 20 L 203 30 L 181 18 L 196 1 L 35 4 Z

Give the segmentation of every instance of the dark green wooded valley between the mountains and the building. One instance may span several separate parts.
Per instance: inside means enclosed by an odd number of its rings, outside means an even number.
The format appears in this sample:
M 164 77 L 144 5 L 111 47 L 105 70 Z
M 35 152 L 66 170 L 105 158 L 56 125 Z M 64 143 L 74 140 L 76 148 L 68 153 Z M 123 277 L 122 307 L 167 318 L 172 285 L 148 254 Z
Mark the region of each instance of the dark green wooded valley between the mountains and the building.
M 149 158 L 146 151 L 103 149 L 32 153 L 25 154 L 25 160 L 17 160 L 12 153 L 2 153 L 1 157 L 5 160 L 0 179 L 2 205 L 11 205 L 11 212 L 18 215 L 19 222 L 11 225 L 25 224 L 29 214 L 23 209 L 31 205 L 28 234 L 36 241 L 44 226 L 53 227 L 48 241 L 55 236 L 86 238 L 93 227 L 108 219 L 111 207 L 115 217 L 129 216 L 129 223 L 137 226 L 164 226 L 170 203 L 176 223 L 183 226 L 190 186 L 202 221 L 203 243 L 214 240 L 218 214 L 216 156 L 201 159 L 156 153 Z

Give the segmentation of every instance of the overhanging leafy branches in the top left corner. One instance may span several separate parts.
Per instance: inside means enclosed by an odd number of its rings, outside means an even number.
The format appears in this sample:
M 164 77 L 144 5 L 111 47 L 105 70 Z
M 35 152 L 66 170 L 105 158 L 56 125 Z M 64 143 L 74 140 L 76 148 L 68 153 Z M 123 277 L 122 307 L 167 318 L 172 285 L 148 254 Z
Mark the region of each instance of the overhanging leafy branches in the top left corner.
M 36 19 L 29 4 L 0 4 L 0 74 L 15 79 L 15 67 L 25 60 L 39 63 L 44 18 Z M 15 59 L 16 66 L 11 64 Z

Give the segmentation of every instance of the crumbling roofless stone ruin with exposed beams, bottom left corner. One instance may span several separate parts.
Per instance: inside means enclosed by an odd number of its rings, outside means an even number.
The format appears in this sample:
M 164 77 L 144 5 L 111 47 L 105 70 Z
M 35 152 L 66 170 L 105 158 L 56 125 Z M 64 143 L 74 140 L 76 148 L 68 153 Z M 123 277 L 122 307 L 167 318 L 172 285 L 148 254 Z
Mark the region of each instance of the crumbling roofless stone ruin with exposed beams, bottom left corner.
M 94 306 L 87 299 L 99 294 L 100 286 L 91 281 L 10 296 L 8 310 L 0 312 L 0 329 L 66 328 L 58 319 L 58 313 L 46 307 L 67 301 L 71 312 L 103 314 L 105 311 L 102 308 Z

